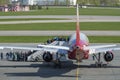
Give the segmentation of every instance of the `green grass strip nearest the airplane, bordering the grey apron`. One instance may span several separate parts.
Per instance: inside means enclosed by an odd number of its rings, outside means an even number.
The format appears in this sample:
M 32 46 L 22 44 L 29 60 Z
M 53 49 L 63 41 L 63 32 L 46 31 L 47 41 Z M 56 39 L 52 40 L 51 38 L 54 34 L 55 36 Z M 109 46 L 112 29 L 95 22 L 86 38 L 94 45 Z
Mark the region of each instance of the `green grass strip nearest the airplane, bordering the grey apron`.
M 41 43 L 54 36 L 0 36 L 0 43 Z M 90 43 L 120 43 L 120 36 L 88 36 Z

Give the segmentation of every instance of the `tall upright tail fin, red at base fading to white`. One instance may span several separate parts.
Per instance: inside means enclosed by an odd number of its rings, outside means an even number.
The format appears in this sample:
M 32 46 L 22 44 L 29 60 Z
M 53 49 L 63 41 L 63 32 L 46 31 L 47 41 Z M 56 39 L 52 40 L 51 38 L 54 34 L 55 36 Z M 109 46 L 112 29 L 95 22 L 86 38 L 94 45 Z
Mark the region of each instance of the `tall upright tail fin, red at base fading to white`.
M 76 46 L 80 46 L 79 5 L 77 4 Z

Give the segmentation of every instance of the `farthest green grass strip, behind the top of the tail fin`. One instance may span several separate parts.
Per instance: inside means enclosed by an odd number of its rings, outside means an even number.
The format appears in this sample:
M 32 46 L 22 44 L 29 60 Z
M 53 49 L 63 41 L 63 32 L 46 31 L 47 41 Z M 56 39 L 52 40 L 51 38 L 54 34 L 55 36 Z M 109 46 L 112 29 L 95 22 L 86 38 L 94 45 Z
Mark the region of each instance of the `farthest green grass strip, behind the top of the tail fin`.
M 76 15 L 76 8 L 49 8 L 28 12 L 0 12 L 0 16 L 18 15 Z M 80 15 L 120 16 L 119 9 L 80 8 Z

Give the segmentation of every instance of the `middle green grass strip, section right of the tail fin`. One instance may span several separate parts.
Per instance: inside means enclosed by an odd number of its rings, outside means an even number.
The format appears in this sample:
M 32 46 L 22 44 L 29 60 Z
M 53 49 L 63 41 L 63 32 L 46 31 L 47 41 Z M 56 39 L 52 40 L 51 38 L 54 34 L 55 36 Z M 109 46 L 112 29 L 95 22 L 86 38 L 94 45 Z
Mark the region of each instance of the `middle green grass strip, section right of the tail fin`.
M 81 30 L 120 30 L 120 22 L 83 22 Z

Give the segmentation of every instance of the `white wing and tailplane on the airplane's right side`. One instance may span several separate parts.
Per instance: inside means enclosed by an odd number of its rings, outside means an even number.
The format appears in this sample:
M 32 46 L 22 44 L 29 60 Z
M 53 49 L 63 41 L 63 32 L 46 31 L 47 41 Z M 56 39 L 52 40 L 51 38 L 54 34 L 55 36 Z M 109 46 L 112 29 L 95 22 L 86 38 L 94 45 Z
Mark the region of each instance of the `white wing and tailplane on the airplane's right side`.
M 115 46 L 116 46 L 116 44 L 113 44 L 113 45 L 97 45 L 97 46 L 87 46 L 84 49 L 89 50 L 89 54 L 120 50 L 120 48 L 115 48 Z

